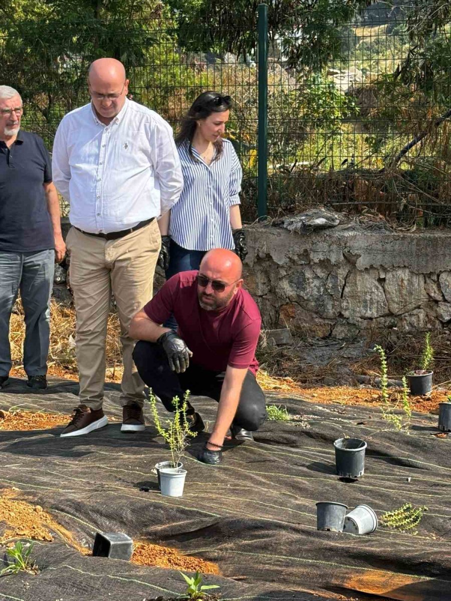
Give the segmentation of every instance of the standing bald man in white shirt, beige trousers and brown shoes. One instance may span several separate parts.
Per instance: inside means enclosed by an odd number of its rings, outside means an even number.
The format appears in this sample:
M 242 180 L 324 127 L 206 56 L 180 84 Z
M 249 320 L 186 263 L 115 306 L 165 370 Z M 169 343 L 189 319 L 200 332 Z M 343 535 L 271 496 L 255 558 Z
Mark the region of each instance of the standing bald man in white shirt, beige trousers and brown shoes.
M 172 129 L 156 112 L 127 99 L 123 64 L 91 64 L 91 102 L 67 114 L 55 135 L 52 169 L 70 205 L 67 234 L 76 308 L 79 406 L 61 436 L 106 426 L 105 343 L 111 292 L 121 325 L 122 432 L 144 430 L 144 383 L 132 360 L 130 320 L 152 297 L 165 215 L 183 188 Z

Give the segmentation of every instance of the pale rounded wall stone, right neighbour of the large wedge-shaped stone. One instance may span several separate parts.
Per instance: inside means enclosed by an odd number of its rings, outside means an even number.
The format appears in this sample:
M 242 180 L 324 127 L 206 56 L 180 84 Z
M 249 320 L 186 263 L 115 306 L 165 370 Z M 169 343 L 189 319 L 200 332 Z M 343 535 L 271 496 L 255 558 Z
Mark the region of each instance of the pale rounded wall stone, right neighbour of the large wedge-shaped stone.
M 385 274 L 385 298 L 388 308 L 395 315 L 421 307 L 428 300 L 425 279 L 407 267 L 396 267 Z

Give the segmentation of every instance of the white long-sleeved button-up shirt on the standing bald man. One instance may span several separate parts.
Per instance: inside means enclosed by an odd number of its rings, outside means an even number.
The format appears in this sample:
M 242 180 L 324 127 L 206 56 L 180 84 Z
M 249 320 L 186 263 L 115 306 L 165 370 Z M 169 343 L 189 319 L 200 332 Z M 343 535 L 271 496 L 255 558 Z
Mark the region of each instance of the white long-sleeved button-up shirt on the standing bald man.
M 128 99 L 108 126 L 91 103 L 68 113 L 55 135 L 52 171 L 70 223 L 94 234 L 164 215 L 183 189 L 170 125 Z

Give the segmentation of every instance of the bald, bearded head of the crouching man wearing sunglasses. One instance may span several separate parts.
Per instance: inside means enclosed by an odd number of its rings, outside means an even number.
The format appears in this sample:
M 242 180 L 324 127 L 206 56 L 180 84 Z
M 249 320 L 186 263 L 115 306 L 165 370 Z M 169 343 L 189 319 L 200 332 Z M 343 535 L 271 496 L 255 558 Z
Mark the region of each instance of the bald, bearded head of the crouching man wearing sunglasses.
M 227 307 L 243 284 L 241 273 L 242 263 L 235 252 L 225 248 L 208 251 L 200 263 L 197 282 L 197 297 L 201 308 L 219 311 Z M 202 285 L 202 282 L 207 283 Z M 222 290 L 215 289 L 218 284 Z

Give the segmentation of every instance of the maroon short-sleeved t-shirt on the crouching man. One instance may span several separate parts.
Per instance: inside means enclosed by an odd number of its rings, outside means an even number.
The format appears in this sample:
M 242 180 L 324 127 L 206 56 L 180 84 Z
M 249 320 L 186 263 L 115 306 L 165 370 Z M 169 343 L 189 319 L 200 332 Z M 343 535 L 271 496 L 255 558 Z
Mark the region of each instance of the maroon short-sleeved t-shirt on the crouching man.
M 184 271 L 168 279 L 144 311 L 155 323 L 171 313 L 179 324 L 180 337 L 192 351 L 193 363 L 207 370 L 225 371 L 227 365 L 259 368 L 255 350 L 262 317 L 251 295 L 239 288 L 227 307 L 206 311 L 197 298 L 197 271 Z

